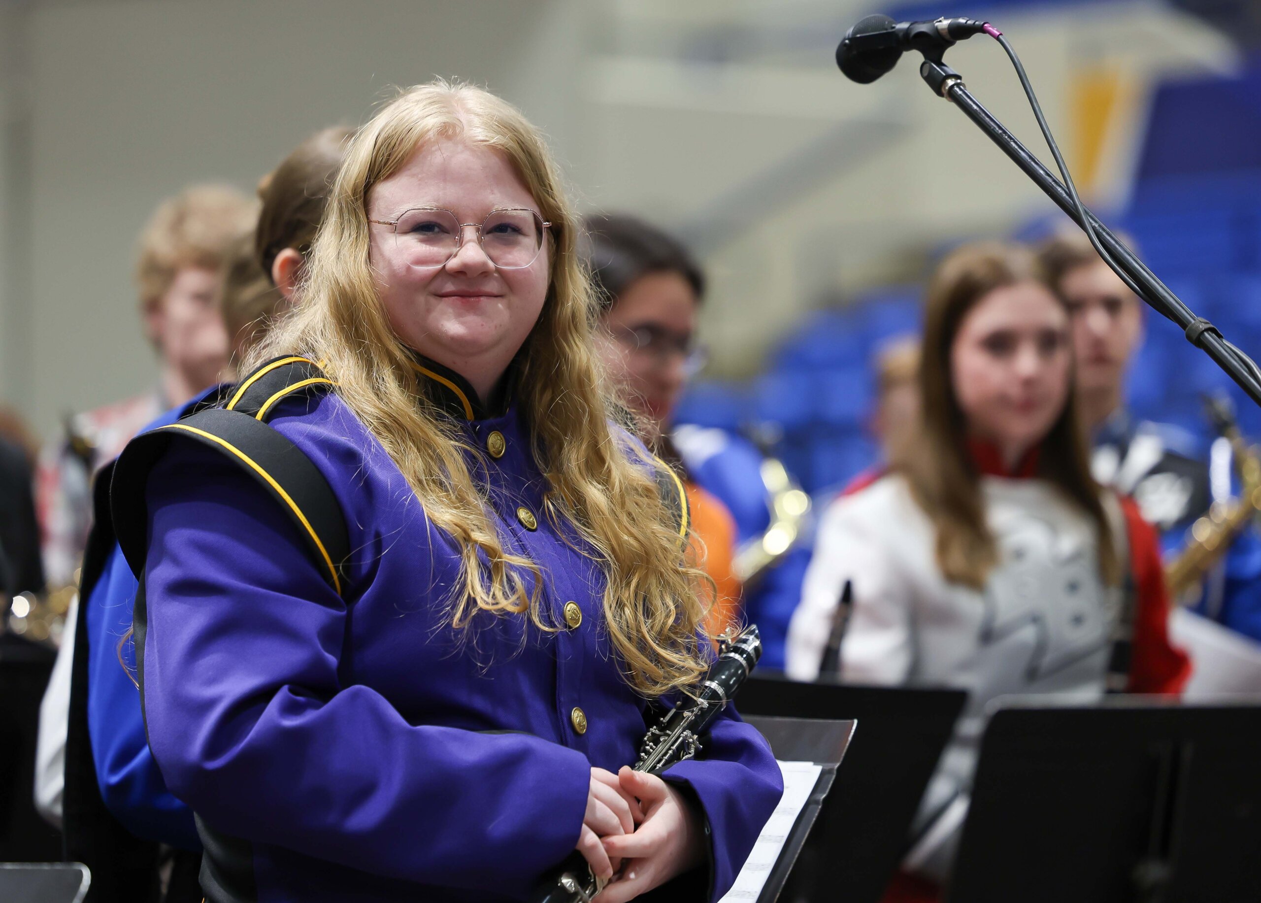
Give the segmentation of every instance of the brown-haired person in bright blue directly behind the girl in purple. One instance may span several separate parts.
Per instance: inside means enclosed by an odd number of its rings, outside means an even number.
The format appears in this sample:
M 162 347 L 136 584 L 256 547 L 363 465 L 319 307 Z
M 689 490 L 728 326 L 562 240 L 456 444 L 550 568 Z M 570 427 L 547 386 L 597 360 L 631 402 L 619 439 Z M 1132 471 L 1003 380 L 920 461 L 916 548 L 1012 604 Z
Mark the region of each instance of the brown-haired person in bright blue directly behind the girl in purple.
M 257 228 L 228 245 L 217 275 L 217 306 L 233 361 L 247 354 L 295 300 L 305 255 L 351 134 L 348 129 L 317 132 L 260 183 Z M 173 422 L 188 406 L 166 411 L 145 429 Z M 158 861 L 169 860 L 173 877 L 166 883 L 168 903 L 200 900 L 200 840 L 193 815 L 166 789 L 153 760 L 132 682 L 135 647 L 130 628 L 137 583 L 112 539 L 111 545 L 100 575 L 90 575 L 93 583 L 84 586 L 88 603 L 82 629 L 87 642 L 78 647 L 82 661 L 77 658 L 72 689 L 73 697 L 84 704 L 74 709 L 81 718 L 72 731 L 81 737 L 86 731 L 91 743 L 81 742 L 78 748 L 90 747 L 91 755 L 76 754 L 74 749 L 69 755 L 78 783 L 76 778 L 69 781 L 78 792 L 67 791 L 72 810 L 66 817 L 67 845 L 79 851 L 79 859 L 95 850 L 113 860 L 120 851 L 131 861 L 155 856 Z M 110 836 L 113 846 L 106 848 L 102 836 Z M 159 851 L 156 844 L 170 849 Z M 134 899 L 153 880 L 153 869 L 122 870 L 116 865 L 97 856 L 95 899 Z

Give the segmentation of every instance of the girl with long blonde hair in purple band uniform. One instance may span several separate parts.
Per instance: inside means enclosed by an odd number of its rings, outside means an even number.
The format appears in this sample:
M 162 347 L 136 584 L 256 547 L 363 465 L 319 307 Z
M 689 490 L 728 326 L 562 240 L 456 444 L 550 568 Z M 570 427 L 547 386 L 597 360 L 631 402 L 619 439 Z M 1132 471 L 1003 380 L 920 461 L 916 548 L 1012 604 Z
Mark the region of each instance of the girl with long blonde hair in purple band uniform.
M 150 748 L 212 903 L 523 899 L 575 849 L 601 903 L 718 899 L 778 803 L 730 709 L 696 759 L 627 768 L 707 667 L 706 586 L 677 479 L 612 425 L 578 231 L 518 111 L 412 88 L 352 140 L 255 357 L 327 375 L 266 411 L 348 556 L 309 554 L 257 462 L 168 430 L 124 551 Z

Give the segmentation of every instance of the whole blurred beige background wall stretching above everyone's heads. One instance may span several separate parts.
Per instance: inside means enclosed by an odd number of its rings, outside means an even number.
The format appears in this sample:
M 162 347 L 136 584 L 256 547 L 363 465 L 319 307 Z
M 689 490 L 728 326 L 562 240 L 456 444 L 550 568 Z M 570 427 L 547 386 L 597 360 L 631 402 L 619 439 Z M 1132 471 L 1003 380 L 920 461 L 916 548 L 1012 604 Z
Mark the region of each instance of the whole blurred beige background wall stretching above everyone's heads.
M 695 241 L 716 368 L 748 372 L 823 289 L 905 275 L 926 247 L 1049 207 L 913 61 L 869 87 L 840 77 L 832 49 L 868 5 L 0 0 L 0 399 L 48 434 L 67 411 L 144 391 L 131 266 L 153 207 L 194 180 L 250 190 L 309 132 L 434 74 L 522 106 L 584 208 Z M 1066 145 L 1083 63 L 1140 82 L 1153 59 L 1229 63 L 1204 29 L 1164 45 L 1170 13 L 1110 15 L 1002 23 Z M 999 48 L 975 39 L 951 62 L 1040 148 Z M 1140 125 L 1131 111 L 1122 139 Z M 1107 185 L 1124 187 L 1131 145 L 1116 143 Z

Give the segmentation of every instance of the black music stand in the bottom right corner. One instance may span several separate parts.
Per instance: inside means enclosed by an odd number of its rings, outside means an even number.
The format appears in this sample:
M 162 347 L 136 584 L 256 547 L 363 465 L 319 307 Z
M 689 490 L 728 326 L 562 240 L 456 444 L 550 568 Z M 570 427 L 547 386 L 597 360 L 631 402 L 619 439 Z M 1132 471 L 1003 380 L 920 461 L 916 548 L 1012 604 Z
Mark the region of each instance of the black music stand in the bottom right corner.
M 1005 700 L 947 899 L 1261 900 L 1261 700 Z

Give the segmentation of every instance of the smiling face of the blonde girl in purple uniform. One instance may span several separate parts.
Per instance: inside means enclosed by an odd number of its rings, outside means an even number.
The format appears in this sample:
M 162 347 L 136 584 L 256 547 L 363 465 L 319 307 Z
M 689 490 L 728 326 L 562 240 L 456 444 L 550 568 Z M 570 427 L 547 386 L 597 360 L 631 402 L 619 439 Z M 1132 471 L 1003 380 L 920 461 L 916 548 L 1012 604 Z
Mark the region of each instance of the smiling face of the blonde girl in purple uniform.
M 480 224 L 492 211 L 538 204 L 498 151 L 458 139 L 421 148 L 368 195 L 368 218 L 395 221 L 414 208 L 444 208 Z M 369 260 L 395 334 L 467 378 L 488 397 L 533 328 L 547 296 L 550 246 L 523 269 L 496 267 L 464 228 L 444 266 L 417 267 L 390 226 L 372 224 Z

